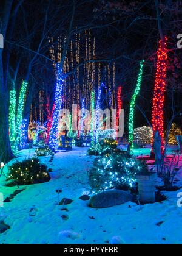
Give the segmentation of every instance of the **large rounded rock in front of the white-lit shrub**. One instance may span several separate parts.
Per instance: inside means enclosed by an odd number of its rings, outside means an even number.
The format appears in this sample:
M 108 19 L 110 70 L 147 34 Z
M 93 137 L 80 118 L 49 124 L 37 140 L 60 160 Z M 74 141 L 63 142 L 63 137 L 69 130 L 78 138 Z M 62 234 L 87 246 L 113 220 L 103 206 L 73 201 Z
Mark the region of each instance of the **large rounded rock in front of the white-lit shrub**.
M 89 206 L 92 208 L 106 208 L 113 205 L 124 204 L 133 201 L 133 196 L 128 191 L 123 190 L 105 190 L 90 199 Z

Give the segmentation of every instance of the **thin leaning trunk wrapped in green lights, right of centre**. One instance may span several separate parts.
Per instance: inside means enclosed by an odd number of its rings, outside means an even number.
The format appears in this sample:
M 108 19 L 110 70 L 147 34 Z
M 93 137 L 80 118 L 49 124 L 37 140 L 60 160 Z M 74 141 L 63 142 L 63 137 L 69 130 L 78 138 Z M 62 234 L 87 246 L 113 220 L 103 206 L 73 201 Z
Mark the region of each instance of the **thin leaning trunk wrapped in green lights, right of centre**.
M 132 96 L 132 100 L 130 102 L 130 113 L 129 113 L 129 143 L 130 143 L 130 151 L 133 151 L 133 140 L 134 140 L 134 134 L 133 134 L 133 121 L 134 121 L 134 112 L 135 112 L 135 101 L 136 96 L 138 96 L 138 93 L 140 91 L 140 85 L 141 85 L 141 79 L 143 74 L 143 63 L 144 60 L 141 60 L 140 62 L 140 71 L 137 78 L 136 88 Z

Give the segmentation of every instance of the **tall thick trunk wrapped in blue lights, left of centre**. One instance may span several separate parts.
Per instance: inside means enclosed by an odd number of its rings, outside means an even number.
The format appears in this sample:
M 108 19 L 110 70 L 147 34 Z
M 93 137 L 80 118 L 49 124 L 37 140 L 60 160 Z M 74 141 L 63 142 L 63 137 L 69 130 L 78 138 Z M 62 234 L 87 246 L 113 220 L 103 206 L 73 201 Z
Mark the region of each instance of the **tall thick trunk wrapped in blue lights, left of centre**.
M 50 130 L 49 146 L 53 150 L 58 148 L 58 124 L 59 124 L 59 113 L 62 108 L 62 94 L 63 94 L 64 79 L 62 76 L 62 70 L 60 65 L 57 65 L 57 83 L 55 92 L 55 109 L 53 112 L 53 122 Z

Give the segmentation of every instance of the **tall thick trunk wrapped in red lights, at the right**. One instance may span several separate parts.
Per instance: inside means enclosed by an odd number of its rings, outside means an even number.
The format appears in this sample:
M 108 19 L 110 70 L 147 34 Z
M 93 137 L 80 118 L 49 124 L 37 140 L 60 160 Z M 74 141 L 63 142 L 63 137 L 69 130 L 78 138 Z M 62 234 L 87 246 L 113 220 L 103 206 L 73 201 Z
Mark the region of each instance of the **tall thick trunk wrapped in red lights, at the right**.
M 167 71 L 167 37 L 160 40 L 157 51 L 157 70 L 155 74 L 155 88 L 152 106 L 153 133 L 158 130 L 161 136 L 161 152 L 164 153 L 164 96 L 166 92 Z M 153 144 L 153 139 L 152 139 Z M 153 149 L 152 149 L 153 152 Z

